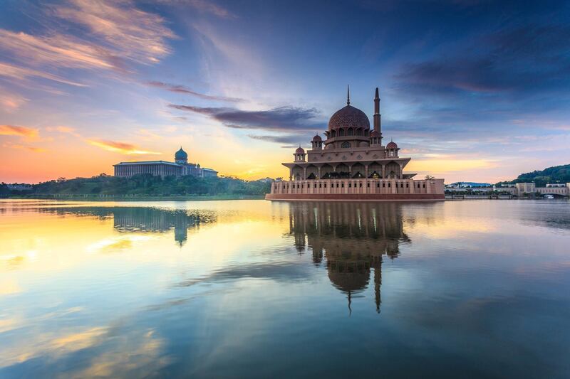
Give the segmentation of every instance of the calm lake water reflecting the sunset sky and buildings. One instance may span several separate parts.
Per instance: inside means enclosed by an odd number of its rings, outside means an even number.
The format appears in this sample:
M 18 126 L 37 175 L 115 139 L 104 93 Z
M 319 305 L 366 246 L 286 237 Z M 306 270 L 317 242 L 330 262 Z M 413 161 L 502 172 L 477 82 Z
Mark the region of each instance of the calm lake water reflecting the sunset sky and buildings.
M 569 378 L 569 356 L 569 201 L 0 201 L 0 378 Z

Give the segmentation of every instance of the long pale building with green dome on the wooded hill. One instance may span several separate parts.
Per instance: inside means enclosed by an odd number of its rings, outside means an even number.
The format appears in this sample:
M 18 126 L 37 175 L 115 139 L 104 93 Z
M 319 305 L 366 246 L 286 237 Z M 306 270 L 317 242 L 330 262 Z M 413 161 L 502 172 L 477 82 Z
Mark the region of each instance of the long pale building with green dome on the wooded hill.
M 167 161 L 138 161 L 138 162 L 120 162 L 114 164 L 115 176 L 122 178 L 130 178 L 134 175 L 151 174 L 153 176 L 197 176 L 205 178 L 209 176 L 218 176 L 218 171 L 200 167 L 199 164 L 188 163 L 188 154 L 186 151 L 176 151 L 174 154 L 174 162 Z

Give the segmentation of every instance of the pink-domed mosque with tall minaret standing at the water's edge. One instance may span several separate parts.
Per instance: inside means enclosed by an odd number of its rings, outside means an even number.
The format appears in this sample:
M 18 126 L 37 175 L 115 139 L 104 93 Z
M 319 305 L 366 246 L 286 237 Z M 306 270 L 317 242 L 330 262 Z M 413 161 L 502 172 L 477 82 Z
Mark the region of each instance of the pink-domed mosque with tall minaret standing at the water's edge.
M 411 158 L 400 156 L 393 141 L 383 145 L 378 88 L 372 130 L 347 92 L 346 107 L 333 114 L 324 134 L 324 140 L 313 137 L 310 150 L 296 149 L 294 160 L 283 164 L 289 181 L 274 181 L 266 200 L 445 200 L 444 179 L 414 179 L 404 172 Z

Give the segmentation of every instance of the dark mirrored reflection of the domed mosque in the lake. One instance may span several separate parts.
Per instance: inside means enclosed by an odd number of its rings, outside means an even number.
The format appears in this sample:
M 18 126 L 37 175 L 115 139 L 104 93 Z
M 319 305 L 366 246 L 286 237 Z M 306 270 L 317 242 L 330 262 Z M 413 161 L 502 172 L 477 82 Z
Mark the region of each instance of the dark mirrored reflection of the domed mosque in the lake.
M 289 225 L 297 251 L 305 242 L 320 265 L 326 258 L 328 278 L 346 293 L 348 310 L 355 294 L 363 292 L 373 272 L 376 311 L 380 313 L 383 257 L 394 259 L 402 242 L 410 242 L 403 231 L 398 203 L 291 203 Z

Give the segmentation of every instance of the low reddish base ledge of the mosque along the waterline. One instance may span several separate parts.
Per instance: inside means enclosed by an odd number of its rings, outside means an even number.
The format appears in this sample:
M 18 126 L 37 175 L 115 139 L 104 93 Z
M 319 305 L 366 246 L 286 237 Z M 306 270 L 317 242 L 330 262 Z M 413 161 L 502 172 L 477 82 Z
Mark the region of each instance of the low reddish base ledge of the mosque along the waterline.
M 267 193 L 270 201 L 445 201 L 443 193 Z

